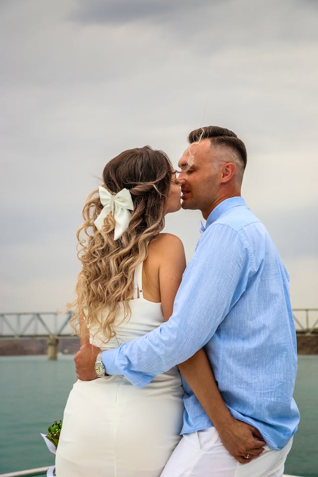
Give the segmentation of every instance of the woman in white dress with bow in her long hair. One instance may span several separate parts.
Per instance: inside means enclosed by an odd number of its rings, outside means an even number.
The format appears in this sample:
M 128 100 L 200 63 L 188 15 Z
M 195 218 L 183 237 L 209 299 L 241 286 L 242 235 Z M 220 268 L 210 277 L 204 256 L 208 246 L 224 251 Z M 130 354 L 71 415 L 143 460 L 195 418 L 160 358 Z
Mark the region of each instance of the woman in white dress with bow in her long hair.
M 82 270 L 73 306 L 81 344 L 117 347 L 171 316 L 185 256 L 177 237 L 160 232 L 165 214 L 179 209 L 176 174 L 163 152 L 146 146 L 106 164 L 78 232 Z M 216 406 L 230 416 L 203 350 L 179 368 L 210 418 Z M 57 476 L 159 477 L 180 438 L 182 396 L 177 368 L 142 389 L 123 376 L 78 380 L 64 412 Z

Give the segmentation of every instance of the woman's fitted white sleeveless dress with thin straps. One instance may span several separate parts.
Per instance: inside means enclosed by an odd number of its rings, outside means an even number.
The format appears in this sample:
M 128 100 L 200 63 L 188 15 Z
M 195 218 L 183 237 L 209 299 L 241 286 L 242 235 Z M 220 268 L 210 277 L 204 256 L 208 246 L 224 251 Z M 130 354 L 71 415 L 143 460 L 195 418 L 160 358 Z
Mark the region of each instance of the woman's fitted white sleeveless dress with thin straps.
M 102 350 L 117 348 L 163 321 L 160 303 L 143 297 L 142 264 L 135 277 L 134 296 L 138 287 L 140 298 L 130 301 L 131 317 L 124 322 L 120 304 L 116 337 L 105 344 L 90 330 L 90 343 Z M 123 376 L 78 380 L 64 411 L 57 477 L 159 477 L 180 440 L 182 397 L 176 367 L 142 389 Z

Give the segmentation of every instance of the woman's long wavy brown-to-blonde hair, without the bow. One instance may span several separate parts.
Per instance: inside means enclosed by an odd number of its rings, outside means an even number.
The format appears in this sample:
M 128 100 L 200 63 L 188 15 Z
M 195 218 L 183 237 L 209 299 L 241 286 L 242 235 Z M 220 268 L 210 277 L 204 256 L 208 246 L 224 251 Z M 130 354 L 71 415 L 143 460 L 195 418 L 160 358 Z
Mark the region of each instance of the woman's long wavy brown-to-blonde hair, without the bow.
M 100 230 L 94 226 L 103 208 L 98 189 L 84 204 L 84 222 L 77 232 L 82 269 L 76 285 L 77 299 L 69 305 L 74 307 L 71 324 L 76 330 L 75 323 L 82 314 L 88 328 L 93 327 L 107 342 L 115 335 L 114 320 L 120 302 L 124 304 L 124 319 L 129 317 L 135 269 L 147 257 L 149 242 L 164 227 L 171 175 L 166 154 L 150 146 L 124 151 L 105 165 L 103 187 L 112 194 L 129 189 L 134 210 L 128 229 L 114 240 L 115 220 L 111 213 Z M 103 319 L 102 312 L 106 312 Z

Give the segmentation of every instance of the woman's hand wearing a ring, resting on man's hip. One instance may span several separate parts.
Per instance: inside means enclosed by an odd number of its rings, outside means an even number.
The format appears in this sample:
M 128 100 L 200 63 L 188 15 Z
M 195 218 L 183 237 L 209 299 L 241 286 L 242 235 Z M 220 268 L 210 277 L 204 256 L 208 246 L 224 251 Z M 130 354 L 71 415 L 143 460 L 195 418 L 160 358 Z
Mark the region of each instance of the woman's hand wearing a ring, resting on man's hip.
M 266 445 L 255 427 L 238 421 L 234 417 L 230 426 L 224 426 L 217 431 L 224 447 L 241 464 L 247 464 L 253 458 L 259 456 L 264 450 L 263 446 Z

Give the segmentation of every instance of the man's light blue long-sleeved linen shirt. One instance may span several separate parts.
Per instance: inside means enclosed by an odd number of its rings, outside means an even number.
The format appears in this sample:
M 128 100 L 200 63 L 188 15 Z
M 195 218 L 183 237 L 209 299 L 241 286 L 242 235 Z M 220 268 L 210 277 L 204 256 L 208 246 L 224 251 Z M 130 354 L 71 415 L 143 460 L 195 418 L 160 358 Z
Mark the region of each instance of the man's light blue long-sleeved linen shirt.
M 256 427 L 271 449 L 297 430 L 297 348 L 289 276 L 264 225 L 241 197 L 209 215 L 182 278 L 171 318 L 147 335 L 104 351 L 110 375 L 146 386 L 204 347 L 233 416 Z M 185 434 L 211 427 L 184 385 Z

